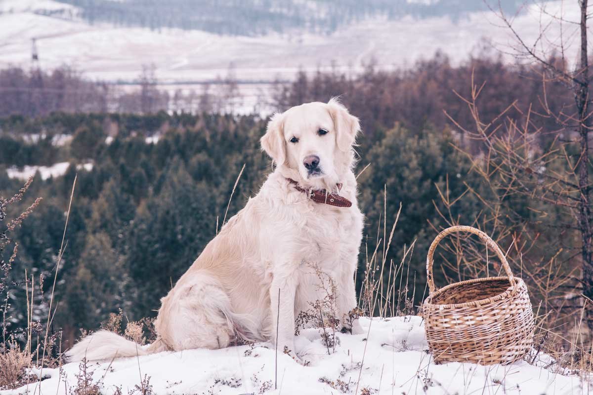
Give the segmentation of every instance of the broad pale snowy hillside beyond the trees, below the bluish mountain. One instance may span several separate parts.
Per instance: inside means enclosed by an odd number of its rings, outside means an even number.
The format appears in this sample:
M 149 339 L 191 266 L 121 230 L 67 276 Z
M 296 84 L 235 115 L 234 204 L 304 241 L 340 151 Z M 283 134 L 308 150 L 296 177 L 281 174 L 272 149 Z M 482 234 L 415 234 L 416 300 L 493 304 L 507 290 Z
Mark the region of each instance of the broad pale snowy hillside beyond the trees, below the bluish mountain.
M 541 25 L 560 15 L 578 19 L 576 7 L 560 1 L 536 5 L 515 18 L 518 33 L 527 43 L 538 37 Z M 512 42 L 508 31 L 491 12 L 472 12 L 457 21 L 448 16 L 391 20 L 369 17 L 331 34 L 305 31 L 265 36 L 222 36 L 205 31 L 87 24 L 76 7 L 51 0 L 0 0 L 0 67 L 28 67 L 31 38 L 37 39 L 40 65 L 50 69 L 74 65 L 90 78 L 126 79 L 138 76 L 142 65 L 154 64 L 165 81 L 206 81 L 224 76 L 229 65 L 242 80 L 294 78 L 299 68 L 359 70 L 372 57 L 382 68 L 409 65 L 442 49 L 452 60 L 465 60 L 487 37 L 502 48 Z M 540 15 L 541 14 L 541 15 Z M 541 20 L 540 20 L 541 17 Z M 550 37 L 556 37 L 556 24 Z M 565 26 L 564 34 L 572 29 Z M 570 52 L 569 52 L 570 53 Z M 570 58 L 570 56 L 569 56 Z

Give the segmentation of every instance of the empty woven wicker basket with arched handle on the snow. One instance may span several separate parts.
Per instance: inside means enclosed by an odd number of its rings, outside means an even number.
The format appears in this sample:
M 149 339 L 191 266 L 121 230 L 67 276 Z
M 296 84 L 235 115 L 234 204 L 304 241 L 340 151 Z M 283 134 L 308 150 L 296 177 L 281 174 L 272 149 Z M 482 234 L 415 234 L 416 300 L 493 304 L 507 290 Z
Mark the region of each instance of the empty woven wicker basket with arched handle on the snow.
M 432 262 L 438 243 L 450 233 L 470 232 L 496 252 L 508 277 L 478 278 L 436 290 Z M 429 297 L 423 304 L 426 339 L 436 363 L 510 364 L 533 343 L 533 310 L 525 282 L 514 277 L 505 255 L 486 233 L 453 226 L 436 236 L 426 257 Z

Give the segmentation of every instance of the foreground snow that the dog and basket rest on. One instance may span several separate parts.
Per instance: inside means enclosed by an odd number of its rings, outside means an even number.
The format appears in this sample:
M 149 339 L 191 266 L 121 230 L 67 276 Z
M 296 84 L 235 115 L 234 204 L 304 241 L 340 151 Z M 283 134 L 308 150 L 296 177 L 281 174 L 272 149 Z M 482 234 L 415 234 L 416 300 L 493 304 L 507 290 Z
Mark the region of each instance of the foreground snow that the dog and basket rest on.
M 267 343 L 220 350 L 195 349 L 162 352 L 113 363 L 90 363 L 93 380 L 101 394 L 117 387 L 127 393 L 150 377 L 155 394 L 580 394 L 584 388 L 576 375 L 560 375 L 544 368 L 550 357 L 541 355 L 534 365 L 525 361 L 509 366 L 483 367 L 451 363 L 435 365 L 427 352 L 422 319 L 416 316 L 361 319 L 365 333 L 346 335 L 328 355 L 318 329 L 302 330 L 295 339 L 297 354 L 309 361 L 298 364 L 278 355 L 278 389 L 275 388 L 275 349 Z M 78 364 L 59 370 L 43 370 L 41 386 L 28 391 L 39 395 L 65 394 L 64 378 L 74 388 Z M 360 377 L 360 380 L 359 380 Z M 340 380 L 340 381 L 339 381 Z M 328 384 L 330 383 L 330 384 Z M 331 387 L 342 387 L 336 389 Z M 346 388 L 347 387 L 347 388 Z M 27 387 L 0 391 L 0 395 L 24 394 Z

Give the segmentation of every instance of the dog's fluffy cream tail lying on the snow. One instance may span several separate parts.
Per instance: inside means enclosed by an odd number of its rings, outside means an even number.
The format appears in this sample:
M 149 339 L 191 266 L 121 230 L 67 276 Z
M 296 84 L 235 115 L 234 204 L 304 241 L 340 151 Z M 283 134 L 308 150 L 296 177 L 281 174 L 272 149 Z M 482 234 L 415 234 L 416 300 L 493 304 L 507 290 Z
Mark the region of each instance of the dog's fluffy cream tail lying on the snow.
M 138 343 L 109 332 L 109 330 L 99 330 L 82 338 L 66 351 L 65 355 L 68 362 L 78 362 L 84 358 L 87 361 L 110 361 L 114 358 L 154 354 L 166 349 L 167 347 L 161 339 L 157 339 L 148 348 L 142 348 Z

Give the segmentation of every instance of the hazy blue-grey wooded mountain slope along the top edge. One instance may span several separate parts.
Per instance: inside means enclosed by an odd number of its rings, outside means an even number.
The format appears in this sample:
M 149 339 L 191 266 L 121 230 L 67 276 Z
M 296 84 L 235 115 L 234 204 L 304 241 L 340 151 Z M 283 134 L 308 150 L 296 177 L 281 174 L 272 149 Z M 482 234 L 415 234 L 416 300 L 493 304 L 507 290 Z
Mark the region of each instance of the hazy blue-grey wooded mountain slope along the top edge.
M 270 32 L 329 34 L 368 17 L 389 20 L 448 16 L 463 18 L 486 9 L 482 0 L 58 0 L 80 9 L 88 23 L 181 28 L 216 34 L 259 36 Z M 498 1 L 487 0 L 496 4 Z M 515 12 L 521 0 L 500 0 Z

